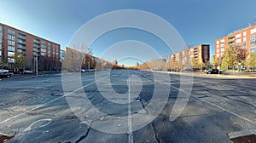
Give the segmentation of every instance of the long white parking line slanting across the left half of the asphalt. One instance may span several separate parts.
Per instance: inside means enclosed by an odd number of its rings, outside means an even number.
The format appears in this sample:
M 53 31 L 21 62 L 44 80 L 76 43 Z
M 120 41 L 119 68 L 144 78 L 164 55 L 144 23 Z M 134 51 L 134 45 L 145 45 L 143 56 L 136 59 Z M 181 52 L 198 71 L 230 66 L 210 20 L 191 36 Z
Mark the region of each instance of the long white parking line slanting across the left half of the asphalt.
M 98 81 L 102 81 L 103 79 L 105 79 L 105 78 L 102 78 L 101 80 L 98 80 Z M 89 84 L 86 84 L 86 85 L 82 86 L 82 87 L 79 88 L 79 89 L 84 89 L 85 87 L 88 87 L 88 86 L 90 86 L 91 84 L 96 83 L 96 82 L 97 82 L 97 81 L 92 82 L 92 83 L 89 83 Z M 26 111 L 26 112 L 21 112 L 20 114 L 15 115 L 14 117 L 9 117 L 8 119 L 5 119 L 5 120 L 1 121 L 0 124 L 6 123 L 6 122 L 8 122 L 9 120 L 14 119 L 14 118 L 16 118 L 16 117 L 20 117 L 21 115 L 24 115 L 24 114 L 26 114 L 27 112 L 32 112 L 32 111 L 34 111 L 34 110 L 36 110 L 36 109 L 38 109 L 38 108 L 40 108 L 40 107 L 42 107 L 42 106 L 46 106 L 46 105 L 48 105 L 49 103 L 52 103 L 52 102 L 56 101 L 56 100 L 61 100 L 63 97 L 66 97 L 66 96 L 69 95 L 69 94 L 73 94 L 73 93 L 75 93 L 76 91 L 79 91 L 79 89 L 75 89 L 73 92 L 70 92 L 70 93 L 68 93 L 68 94 L 64 94 L 64 95 L 62 95 L 62 96 L 60 96 L 60 97 L 57 97 L 57 98 L 55 98 L 55 99 L 53 99 L 53 100 L 50 100 L 50 101 L 44 103 L 43 105 L 33 107 L 32 109 L 30 109 L 30 110 L 28 110 L 28 111 Z

